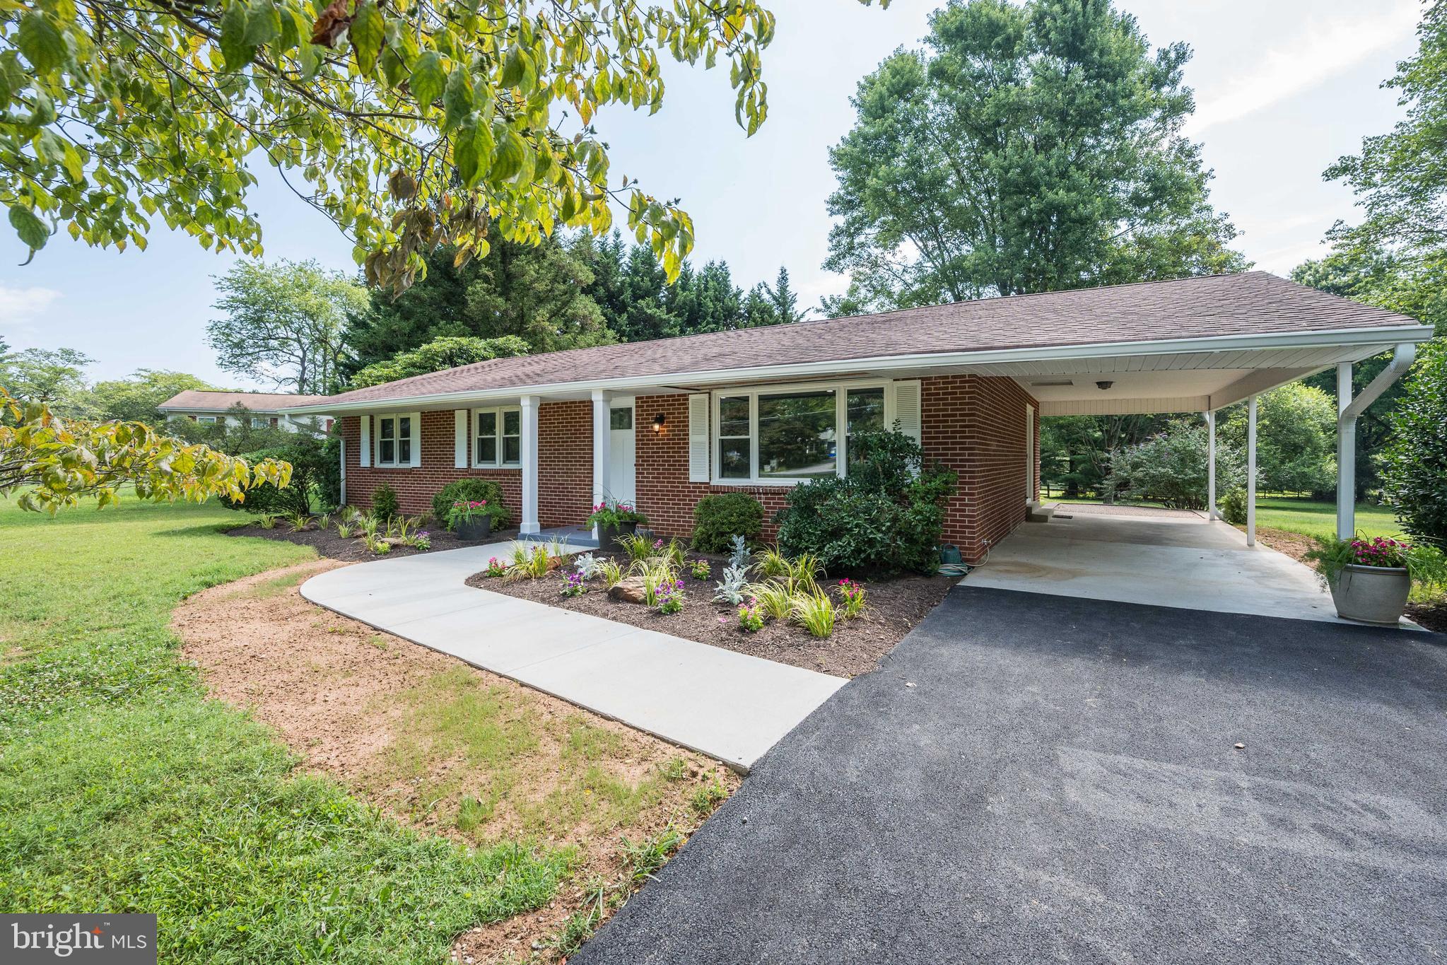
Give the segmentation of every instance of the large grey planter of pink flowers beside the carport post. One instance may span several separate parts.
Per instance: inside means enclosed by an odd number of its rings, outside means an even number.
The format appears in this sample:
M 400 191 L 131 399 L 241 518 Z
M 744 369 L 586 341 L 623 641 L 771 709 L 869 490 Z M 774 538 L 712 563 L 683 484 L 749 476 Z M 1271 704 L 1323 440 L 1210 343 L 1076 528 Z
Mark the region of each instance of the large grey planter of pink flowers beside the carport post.
M 1412 582 L 1430 583 L 1447 576 L 1440 551 L 1401 540 L 1317 537 L 1307 553 L 1331 590 L 1337 616 L 1363 624 L 1395 626 L 1406 609 Z

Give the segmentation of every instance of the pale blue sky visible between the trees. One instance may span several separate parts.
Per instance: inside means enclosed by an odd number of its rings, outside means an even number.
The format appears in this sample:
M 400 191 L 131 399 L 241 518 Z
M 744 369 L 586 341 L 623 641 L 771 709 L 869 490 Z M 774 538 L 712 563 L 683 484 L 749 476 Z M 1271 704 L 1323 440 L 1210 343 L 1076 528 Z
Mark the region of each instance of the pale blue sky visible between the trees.
M 800 304 L 845 289 L 826 272 L 835 187 L 828 149 L 854 120 L 860 78 L 894 49 L 916 48 L 939 0 L 894 0 L 887 10 L 852 0 L 774 0 L 774 42 L 764 52 L 768 120 L 752 137 L 734 123 L 726 65 L 666 69 L 664 106 L 651 117 L 609 109 L 598 119 L 615 181 L 628 175 L 693 216 L 692 260 L 722 259 L 735 284 L 773 281 L 787 266 Z M 1382 90 L 1415 51 L 1417 0 L 1117 0 L 1155 46 L 1185 42 L 1185 81 L 1197 111 L 1188 135 L 1215 172 L 1211 200 L 1240 229 L 1237 247 L 1256 268 L 1288 273 L 1324 253 L 1321 237 L 1353 220 L 1353 198 L 1321 172 L 1363 136 L 1402 114 Z M 259 171 L 253 207 L 266 258 L 314 258 L 353 271 L 352 245 Z M 621 218 L 619 218 L 621 221 Z M 30 265 L 0 226 L 0 337 L 14 349 L 72 347 L 96 359 L 90 376 L 139 367 L 191 372 L 217 385 L 252 385 L 214 365 L 205 323 L 216 317 L 213 276 L 234 260 L 204 252 L 164 226 L 145 252 L 88 249 L 56 236 Z

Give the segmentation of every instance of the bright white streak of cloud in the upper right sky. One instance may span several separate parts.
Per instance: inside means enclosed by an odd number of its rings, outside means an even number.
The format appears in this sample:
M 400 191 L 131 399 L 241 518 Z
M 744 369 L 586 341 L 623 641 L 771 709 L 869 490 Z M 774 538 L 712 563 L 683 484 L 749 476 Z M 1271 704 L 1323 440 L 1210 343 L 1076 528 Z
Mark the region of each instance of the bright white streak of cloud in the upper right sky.
M 1404 36 L 1412 35 L 1420 13 L 1417 0 L 1398 0 L 1386 10 L 1312 23 L 1304 35 L 1266 51 L 1255 71 L 1239 75 L 1224 90 L 1202 91 L 1195 114 L 1187 122 L 1187 133 L 1197 136 L 1207 127 L 1311 90 L 1378 51 L 1401 43 Z

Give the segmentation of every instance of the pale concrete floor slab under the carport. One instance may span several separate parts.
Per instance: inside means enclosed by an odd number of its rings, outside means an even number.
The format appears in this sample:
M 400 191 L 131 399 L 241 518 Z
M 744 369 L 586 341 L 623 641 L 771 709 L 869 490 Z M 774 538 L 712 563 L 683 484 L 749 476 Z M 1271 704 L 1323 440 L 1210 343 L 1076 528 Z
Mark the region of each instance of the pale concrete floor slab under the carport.
M 1027 522 L 964 577 L 977 589 L 1051 593 L 1346 622 L 1307 566 L 1201 516 L 1075 515 Z M 1404 621 L 1404 626 L 1414 626 Z

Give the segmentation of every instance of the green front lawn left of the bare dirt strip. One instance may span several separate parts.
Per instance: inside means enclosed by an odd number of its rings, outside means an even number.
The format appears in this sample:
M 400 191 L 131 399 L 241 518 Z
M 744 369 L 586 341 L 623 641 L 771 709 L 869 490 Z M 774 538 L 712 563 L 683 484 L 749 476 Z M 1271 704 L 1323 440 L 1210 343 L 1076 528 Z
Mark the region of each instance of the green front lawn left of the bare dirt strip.
M 399 828 L 204 699 L 184 596 L 311 550 L 224 508 L 0 502 L 0 909 L 155 911 L 165 962 L 443 962 L 538 907 L 567 858 Z

